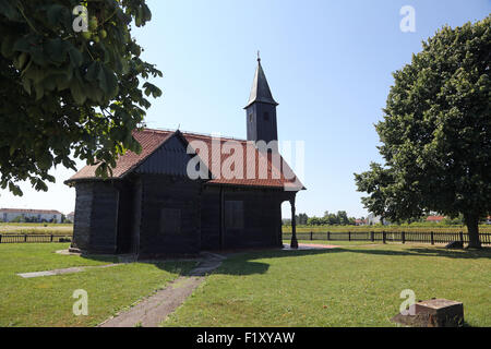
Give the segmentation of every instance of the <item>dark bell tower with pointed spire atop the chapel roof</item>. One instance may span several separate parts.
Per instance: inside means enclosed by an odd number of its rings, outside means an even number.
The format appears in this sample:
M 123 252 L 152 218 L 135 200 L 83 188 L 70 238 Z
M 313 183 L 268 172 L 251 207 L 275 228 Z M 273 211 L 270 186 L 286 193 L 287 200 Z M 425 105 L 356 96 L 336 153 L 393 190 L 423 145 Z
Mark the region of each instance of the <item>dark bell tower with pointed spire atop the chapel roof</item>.
M 267 84 L 266 75 L 261 67 L 258 55 L 258 69 L 255 70 L 249 103 L 246 106 L 248 141 L 278 141 L 276 123 L 276 106 Z

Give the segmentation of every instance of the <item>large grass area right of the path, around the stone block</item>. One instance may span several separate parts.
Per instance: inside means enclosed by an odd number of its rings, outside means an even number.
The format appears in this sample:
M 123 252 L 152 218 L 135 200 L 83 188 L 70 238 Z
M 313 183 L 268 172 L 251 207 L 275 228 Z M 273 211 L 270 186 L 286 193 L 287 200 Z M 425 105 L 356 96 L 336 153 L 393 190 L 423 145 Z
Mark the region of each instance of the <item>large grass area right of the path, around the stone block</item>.
M 315 241 L 319 243 L 319 241 Z M 395 326 L 405 289 L 464 302 L 468 326 L 491 326 L 491 250 L 417 244 L 236 255 L 164 326 Z

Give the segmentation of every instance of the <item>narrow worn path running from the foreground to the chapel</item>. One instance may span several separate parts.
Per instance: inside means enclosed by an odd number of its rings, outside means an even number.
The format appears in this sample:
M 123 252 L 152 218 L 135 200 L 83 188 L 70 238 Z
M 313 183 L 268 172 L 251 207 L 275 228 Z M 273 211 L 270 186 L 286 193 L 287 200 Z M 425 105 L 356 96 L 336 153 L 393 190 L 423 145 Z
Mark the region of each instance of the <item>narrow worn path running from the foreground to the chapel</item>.
M 221 265 L 226 257 L 202 253 L 204 260 L 188 276 L 180 276 L 164 290 L 141 301 L 130 310 L 101 323 L 98 327 L 157 327 L 200 286 L 205 275 Z

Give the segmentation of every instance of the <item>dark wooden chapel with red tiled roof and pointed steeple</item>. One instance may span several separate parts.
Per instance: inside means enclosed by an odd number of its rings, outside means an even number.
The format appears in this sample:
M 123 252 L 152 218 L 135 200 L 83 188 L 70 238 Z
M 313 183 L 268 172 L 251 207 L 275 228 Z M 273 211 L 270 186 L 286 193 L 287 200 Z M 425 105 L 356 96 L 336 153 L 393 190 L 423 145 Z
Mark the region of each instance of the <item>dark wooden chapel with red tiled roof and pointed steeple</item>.
M 247 110 L 248 140 L 140 130 L 141 154 L 111 178 L 86 166 L 76 189 L 72 250 L 142 256 L 283 246 L 282 209 L 303 185 L 277 153 L 276 106 L 259 60 Z M 294 246 L 296 241 L 292 241 Z

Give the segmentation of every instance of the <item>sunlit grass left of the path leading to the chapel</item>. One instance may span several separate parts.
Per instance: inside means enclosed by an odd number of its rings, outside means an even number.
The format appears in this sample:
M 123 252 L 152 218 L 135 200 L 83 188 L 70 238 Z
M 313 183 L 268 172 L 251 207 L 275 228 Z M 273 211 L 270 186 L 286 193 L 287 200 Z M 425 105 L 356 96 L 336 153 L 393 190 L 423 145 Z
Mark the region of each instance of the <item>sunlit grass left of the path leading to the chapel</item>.
M 60 255 L 68 244 L 0 244 L 0 326 L 94 326 L 161 289 L 195 262 L 133 263 L 24 279 L 29 273 L 110 264 L 112 258 Z M 74 316 L 73 291 L 88 293 L 88 316 Z

